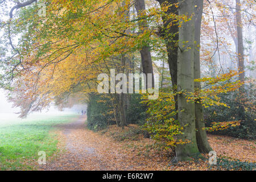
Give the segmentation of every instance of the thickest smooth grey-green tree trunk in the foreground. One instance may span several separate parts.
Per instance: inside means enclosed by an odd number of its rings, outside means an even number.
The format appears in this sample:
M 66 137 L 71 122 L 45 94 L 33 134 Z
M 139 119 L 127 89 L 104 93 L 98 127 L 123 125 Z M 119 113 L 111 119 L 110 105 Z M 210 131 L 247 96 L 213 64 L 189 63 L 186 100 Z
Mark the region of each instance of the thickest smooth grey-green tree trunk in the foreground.
M 179 14 L 188 18 L 195 13 L 195 2 L 179 0 Z M 177 57 L 177 91 L 194 92 L 194 41 L 195 17 L 183 22 L 179 28 L 179 49 Z M 181 49 L 182 48 L 182 49 Z M 187 102 L 185 94 L 178 94 L 178 121 L 184 128 L 183 133 L 177 136 L 178 141 L 188 142 L 177 144 L 176 156 L 173 162 L 189 160 L 191 157 L 201 156 L 196 143 L 195 104 Z

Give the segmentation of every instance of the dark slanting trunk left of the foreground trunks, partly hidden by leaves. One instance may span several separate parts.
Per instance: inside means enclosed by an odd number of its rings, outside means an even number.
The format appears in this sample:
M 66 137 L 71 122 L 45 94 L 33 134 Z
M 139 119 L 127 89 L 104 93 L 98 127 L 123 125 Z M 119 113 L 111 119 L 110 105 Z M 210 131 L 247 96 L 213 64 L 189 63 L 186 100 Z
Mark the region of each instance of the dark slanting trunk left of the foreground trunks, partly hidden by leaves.
M 144 10 L 146 10 L 145 2 L 144 0 L 137 0 L 135 2 L 135 9 L 137 10 L 138 17 L 141 17 L 144 15 Z M 147 20 L 144 19 L 142 21 L 139 21 L 138 23 L 139 31 L 141 34 L 143 34 L 147 30 Z M 145 81 L 145 88 L 154 88 L 154 73 L 153 73 L 153 65 L 152 65 L 152 59 L 151 59 L 151 53 L 150 53 L 150 46 L 147 44 L 146 46 L 142 47 L 142 49 L 139 51 L 141 53 L 141 62 L 142 62 L 142 71 L 146 74 L 146 80 Z M 147 74 L 152 74 L 152 82 L 148 83 L 147 81 Z M 148 85 L 149 84 L 149 85 Z

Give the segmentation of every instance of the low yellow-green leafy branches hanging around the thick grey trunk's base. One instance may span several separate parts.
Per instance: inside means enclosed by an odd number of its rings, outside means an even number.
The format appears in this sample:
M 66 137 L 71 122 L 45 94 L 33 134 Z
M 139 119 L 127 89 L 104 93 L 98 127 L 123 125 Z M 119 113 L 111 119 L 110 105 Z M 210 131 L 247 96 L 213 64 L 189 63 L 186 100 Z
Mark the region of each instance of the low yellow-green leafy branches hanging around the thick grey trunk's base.
M 157 100 L 147 100 L 146 96 L 143 102 L 147 104 L 144 130 L 148 131 L 152 139 L 158 141 L 159 147 L 168 149 L 178 143 L 187 142 L 176 140 L 176 136 L 182 134 L 183 127 L 175 119 L 177 112 L 171 88 L 161 89 Z

